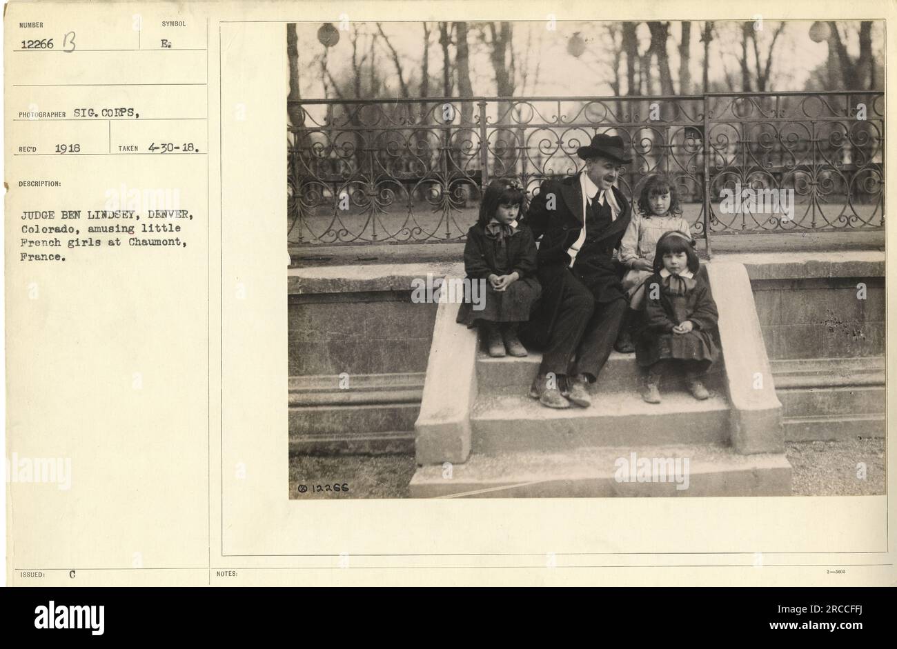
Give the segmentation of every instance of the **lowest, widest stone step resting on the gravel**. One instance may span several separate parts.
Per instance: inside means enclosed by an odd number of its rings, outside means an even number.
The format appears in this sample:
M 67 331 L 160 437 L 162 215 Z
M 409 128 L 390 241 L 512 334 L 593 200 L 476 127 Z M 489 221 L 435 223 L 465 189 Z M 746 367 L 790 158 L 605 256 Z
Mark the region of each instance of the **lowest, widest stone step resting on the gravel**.
M 656 469 L 640 473 L 644 459 Z M 686 476 L 687 488 L 676 489 Z M 791 465 L 784 454 L 743 455 L 715 445 L 472 454 L 450 474 L 443 466 L 418 467 L 410 491 L 414 498 L 788 496 Z

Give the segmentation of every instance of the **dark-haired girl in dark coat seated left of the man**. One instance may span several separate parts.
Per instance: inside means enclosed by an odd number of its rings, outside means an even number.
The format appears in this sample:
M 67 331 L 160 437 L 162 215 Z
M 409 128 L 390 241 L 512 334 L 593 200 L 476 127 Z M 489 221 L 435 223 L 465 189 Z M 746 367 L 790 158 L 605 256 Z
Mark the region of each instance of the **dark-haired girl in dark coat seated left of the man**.
M 467 279 L 485 285 L 482 310 L 469 296 L 458 310 L 457 322 L 478 325 L 491 356 L 526 356 L 518 339 L 518 325 L 542 292 L 536 280 L 536 240 L 518 214 L 525 193 L 516 180 L 496 178 L 483 193 L 480 218 L 467 231 L 464 268 Z

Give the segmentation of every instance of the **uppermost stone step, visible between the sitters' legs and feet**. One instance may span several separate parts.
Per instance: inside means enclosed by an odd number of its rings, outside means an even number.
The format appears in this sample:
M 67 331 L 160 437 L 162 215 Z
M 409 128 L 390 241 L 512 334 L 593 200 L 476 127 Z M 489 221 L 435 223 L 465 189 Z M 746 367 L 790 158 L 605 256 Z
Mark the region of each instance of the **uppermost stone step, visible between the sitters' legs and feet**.
M 476 379 L 479 394 L 507 395 L 528 394 L 529 386 L 539 371 L 542 354 L 531 351 L 522 359 L 506 356 L 493 359 L 485 351 L 480 350 L 476 357 Z M 723 385 L 723 364 L 716 363 L 706 377 L 708 388 L 721 388 Z M 597 394 L 623 391 L 636 391 L 640 385 L 640 369 L 635 362 L 635 354 L 611 352 L 607 364 L 601 370 L 596 384 L 593 386 Z M 660 384 L 663 389 L 684 389 L 684 378 L 679 373 L 667 373 Z

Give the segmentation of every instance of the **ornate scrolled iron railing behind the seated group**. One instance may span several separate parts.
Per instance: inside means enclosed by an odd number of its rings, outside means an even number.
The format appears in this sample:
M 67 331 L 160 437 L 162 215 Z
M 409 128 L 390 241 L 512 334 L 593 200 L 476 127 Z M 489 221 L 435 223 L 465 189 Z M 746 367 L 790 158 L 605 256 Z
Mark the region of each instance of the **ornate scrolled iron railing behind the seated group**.
M 619 134 L 637 196 L 675 179 L 697 237 L 882 229 L 884 93 L 689 97 L 308 100 L 288 125 L 290 246 L 463 240 L 482 187 L 517 177 L 538 191 L 576 173 L 579 146 Z M 792 213 L 723 200 L 739 188 L 789 193 Z M 746 196 L 746 194 L 745 194 Z M 736 209 L 733 209 L 733 205 Z M 760 203 L 763 208 L 763 203 Z

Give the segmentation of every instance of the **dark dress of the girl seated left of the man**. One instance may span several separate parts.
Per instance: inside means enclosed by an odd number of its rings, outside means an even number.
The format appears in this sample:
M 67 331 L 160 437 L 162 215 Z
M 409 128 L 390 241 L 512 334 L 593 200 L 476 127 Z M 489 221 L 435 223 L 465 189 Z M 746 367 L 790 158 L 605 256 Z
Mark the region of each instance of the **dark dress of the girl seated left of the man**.
M 516 228 L 496 223 L 489 225 L 492 227 L 477 223 L 467 230 L 464 247 L 467 279 L 484 280 L 486 286 L 482 311 L 474 310 L 469 295 L 458 309 L 457 322 L 468 327 L 475 326 L 477 320 L 526 322 L 542 292 L 536 280 L 536 240 L 532 231 L 525 225 Z M 489 275 L 507 275 L 515 271 L 520 276 L 518 281 L 501 292 L 492 289 Z M 483 299 L 482 294 L 479 299 Z

